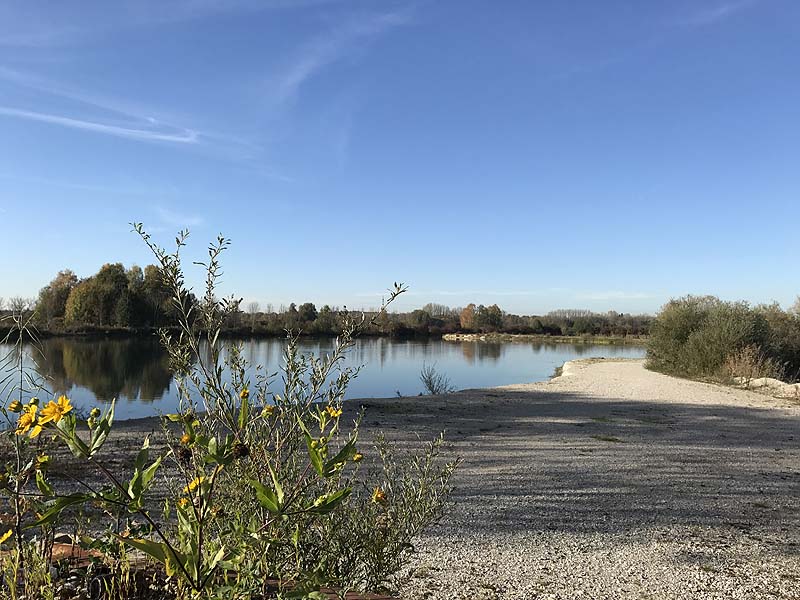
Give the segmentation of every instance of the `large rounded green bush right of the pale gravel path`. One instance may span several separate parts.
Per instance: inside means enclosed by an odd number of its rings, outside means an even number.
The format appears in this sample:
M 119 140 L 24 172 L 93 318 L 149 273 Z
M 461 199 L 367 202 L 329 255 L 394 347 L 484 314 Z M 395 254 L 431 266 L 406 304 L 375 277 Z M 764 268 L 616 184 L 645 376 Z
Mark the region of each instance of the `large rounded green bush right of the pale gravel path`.
M 746 348 L 751 349 L 749 358 L 742 354 Z M 756 362 L 772 365 L 771 372 L 776 372 L 772 367 L 786 367 L 796 373 L 799 350 L 796 315 L 775 305 L 752 307 L 713 296 L 687 296 L 670 301 L 658 314 L 651 328 L 647 364 L 664 373 L 720 377 L 730 374 L 731 364 L 759 357 Z

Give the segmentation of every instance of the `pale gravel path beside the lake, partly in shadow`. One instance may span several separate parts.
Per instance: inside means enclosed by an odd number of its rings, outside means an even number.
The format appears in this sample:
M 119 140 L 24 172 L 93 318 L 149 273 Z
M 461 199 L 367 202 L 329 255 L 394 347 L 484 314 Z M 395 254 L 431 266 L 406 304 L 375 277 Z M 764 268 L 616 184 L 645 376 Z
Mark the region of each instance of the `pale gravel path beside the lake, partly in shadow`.
M 579 361 L 546 383 L 369 400 L 464 459 L 403 597 L 800 599 L 800 406 Z

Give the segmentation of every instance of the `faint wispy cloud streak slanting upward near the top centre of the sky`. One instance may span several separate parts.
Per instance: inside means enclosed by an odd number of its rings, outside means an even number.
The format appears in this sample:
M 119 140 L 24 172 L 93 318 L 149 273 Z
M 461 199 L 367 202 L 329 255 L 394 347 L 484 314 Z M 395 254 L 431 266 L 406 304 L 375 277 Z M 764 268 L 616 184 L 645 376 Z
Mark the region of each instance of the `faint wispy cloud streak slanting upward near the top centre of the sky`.
M 392 12 L 359 17 L 331 29 L 306 44 L 271 81 L 271 96 L 276 104 L 294 99 L 300 88 L 323 68 L 336 63 L 359 43 L 369 42 L 382 33 L 411 21 L 410 13 Z

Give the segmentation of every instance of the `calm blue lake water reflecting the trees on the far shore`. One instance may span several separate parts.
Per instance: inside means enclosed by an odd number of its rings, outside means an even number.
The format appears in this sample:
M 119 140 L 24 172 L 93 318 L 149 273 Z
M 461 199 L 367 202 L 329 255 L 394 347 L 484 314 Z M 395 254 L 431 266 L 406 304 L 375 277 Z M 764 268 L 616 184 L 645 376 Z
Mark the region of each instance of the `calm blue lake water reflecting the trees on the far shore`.
M 247 340 L 245 355 L 267 371 L 278 371 L 283 340 Z M 303 340 L 304 353 L 333 350 L 333 340 Z M 7 347 L 0 345 L 5 354 Z M 117 417 L 130 419 L 170 412 L 177 406 L 175 386 L 164 351 L 155 339 L 47 339 L 42 353 L 26 349 L 28 364 L 48 380 L 49 389 L 89 407 L 117 398 Z M 423 391 L 419 372 L 435 364 L 458 389 L 543 381 L 567 360 L 596 356 L 638 358 L 644 348 L 588 344 L 397 341 L 357 342 L 350 365 L 364 365 L 349 388 L 349 398 L 388 397 Z M 279 391 L 280 377 L 272 386 Z

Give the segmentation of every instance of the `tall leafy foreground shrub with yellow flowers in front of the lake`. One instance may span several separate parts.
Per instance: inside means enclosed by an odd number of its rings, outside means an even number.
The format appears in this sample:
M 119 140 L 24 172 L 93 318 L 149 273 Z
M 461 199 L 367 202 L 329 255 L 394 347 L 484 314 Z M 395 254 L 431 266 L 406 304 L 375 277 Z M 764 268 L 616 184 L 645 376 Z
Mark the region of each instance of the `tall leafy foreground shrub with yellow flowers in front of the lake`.
M 238 599 L 289 591 L 291 597 L 317 598 L 329 585 L 387 588 L 411 538 L 441 516 L 455 463 L 441 461 L 440 439 L 402 460 L 391 458 L 380 438 L 374 454 L 361 453 L 360 418 L 352 426 L 343 418 L 344 395 L 358 369 L 342 361 L 369 324 L 343 315 L 343 334 L 324 357 L 301 355 L 290 336 L 283 389 L 274 393 L 271 377 L 251 368 L 241 346 L 219 341 L 239 304 L 216 294 L 228 241 L 220 237 L 209 247 L 205 295 L 197 301 L 181 264 L 188 233 L 179 234 L 176 250 L 167 253 L 141 225 L 134 228 L 158 259 L 178 319 L 177 332 L 160 332 L 180 396 L 179 412 L 163 419 L 166 448 L 153 456 L 145 438 L 131 468 L 113 466 L 114 459 L 103 456 L 113 403 L 88 418 L 77 415 L 64 396 L 39 409 L 25 385 L 22 361 L 14 362 L 20 384 L 12 391 L 19 399 L 2 412 L 16 458 L 6 464 L 0 487 L 11 498 L 16 524 L 0 535 L 0 543 L 14 543 L 16 550 L 4 559 L 11 565 L 4 570 L 21 573 L 27 592 L 22 561 L 32 543 L 23 540 L 23 531 L 40 528 L 52 539 L 68 509 L 85 505 L 101 507 L 108 527 L 101 538 L 83 538 L 82 544 L 106 551 L 127 547 L 148 556 L 167 576 L 165 598 Z M 395 284 L 381 310 L 404 289 Z M 18 329 L 22 339 L 23 325 Z M 100 474 L 106 485 L 90 480 L 69 493 L 55 489 L 32 445 L 40 433 L 69 448 L 82 471 Z M 362 459 L 373 468 L 362 470 Z M 166 467 L 166 499 L 154 499 L 151 488 Z M 32 493 L 34 482 L 38 491 Z M 371 515 L 367 522 L 365 515 Z M 120 532 L 117 525 L 134 516 L 138 524 Z

